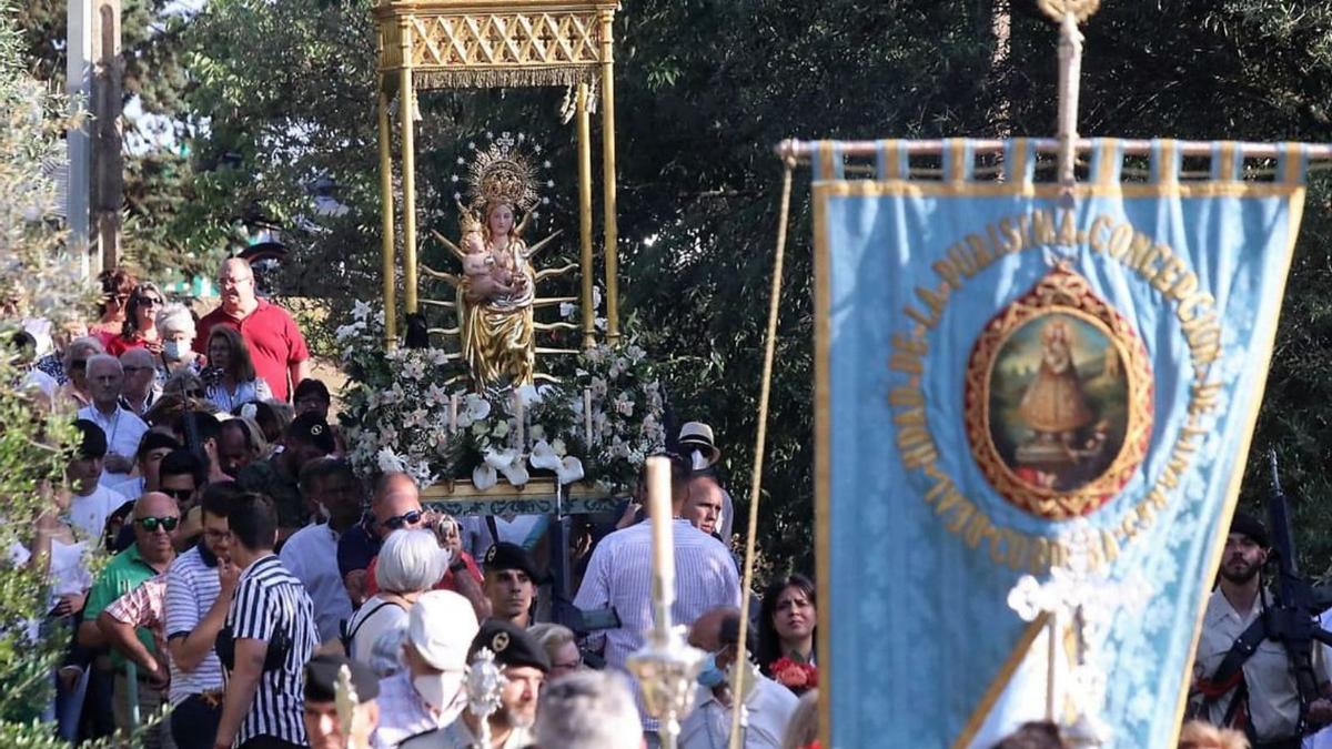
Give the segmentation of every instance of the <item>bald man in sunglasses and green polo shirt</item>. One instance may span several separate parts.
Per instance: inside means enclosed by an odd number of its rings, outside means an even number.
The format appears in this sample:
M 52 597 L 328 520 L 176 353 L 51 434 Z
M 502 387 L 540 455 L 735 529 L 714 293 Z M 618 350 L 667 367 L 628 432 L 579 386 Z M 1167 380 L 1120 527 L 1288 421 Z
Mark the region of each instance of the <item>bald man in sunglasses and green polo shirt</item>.
M 159 709 L 169 680 L 165 658 L 157 649 L 157 642 L 161 640 L 161 616 L 160 613 L 152 616 L 152 612 L 163 610 L 165 580 L 161 578 L 151 586 L 147 585 L 166 572 L 166 568 L 176 558 L 173 536 L 176 526 L 180 525 L 180 510 L 176 509 L 176 500 L 160 492 L 144 494 L 135 502 L 133 525 L 135 544 L 112 557 L 97 577 L 88 593 L 84 621 L 79 626 L 80 645 L 87 648 L 112 645 L 111 669 L 115 674 L 112 714 L 117 729 L 128 729 L 131 718 L 127 660 L 132 660 L 139 666 L 136 678 L 139 680 L 140 714 L 151 714 Z M 127 626 L 121 618 L 108 612 L 117 598 L 135 593 L 140 588 L 144 589 L 121 602 L 116 613 L 128 621 L 156 618 L 157 632 Z M 145 614 L 145 610 L 149 613 Z M 133 636 L 129 636 L 129 632 Z M 165 724 L 153 728 L 144 745 L 149 748 L 170 746 L 170 736 Z

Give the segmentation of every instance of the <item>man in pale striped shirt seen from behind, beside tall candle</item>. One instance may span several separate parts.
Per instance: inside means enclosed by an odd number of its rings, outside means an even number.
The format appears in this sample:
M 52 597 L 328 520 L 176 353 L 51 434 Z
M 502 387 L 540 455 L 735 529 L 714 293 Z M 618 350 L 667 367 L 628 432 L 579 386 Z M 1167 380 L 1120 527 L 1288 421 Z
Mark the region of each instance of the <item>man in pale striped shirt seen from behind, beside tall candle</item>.
M 730 550 L 681 517 L 689 500 L 689 472 L 687 462 L 671 458 L 671 533 L 675 548 L 671 617 L 685 625 L 694 624 L 710 609 L 741 604 L 739 574 Z M 630 525 L 606 536 L 587 561 L 574 605 L 585 612 L 613 606 L 619 614 L 619 628 L 606 630 L 603 642 L 595 636 L 589 638 L 594 650 L 603 645 L 606 665 L 613 669 L 626 670 L 626 660 L 643 645 L 645 633 L 653 628 L 651 573 L 651 522 Z M 634 694 L 642 713 L 637 682 Z M 657 721 L 645 717 L 643 730 L 655 734 Z

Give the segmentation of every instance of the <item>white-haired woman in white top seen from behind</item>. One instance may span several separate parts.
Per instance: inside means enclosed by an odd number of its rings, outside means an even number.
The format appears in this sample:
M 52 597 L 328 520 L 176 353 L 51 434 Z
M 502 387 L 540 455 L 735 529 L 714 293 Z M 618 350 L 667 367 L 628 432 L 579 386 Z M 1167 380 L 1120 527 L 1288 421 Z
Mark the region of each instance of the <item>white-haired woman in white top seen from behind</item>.
M 434 588 L 449 569 L 449 552 L 425 528 L 389 533 L 380 549 L 374 582 L 380 592 L 346 622 L 348 656 L 373 664 L 374 644 L 385 632 L 405 629 L 408 612 L 422 593 Z

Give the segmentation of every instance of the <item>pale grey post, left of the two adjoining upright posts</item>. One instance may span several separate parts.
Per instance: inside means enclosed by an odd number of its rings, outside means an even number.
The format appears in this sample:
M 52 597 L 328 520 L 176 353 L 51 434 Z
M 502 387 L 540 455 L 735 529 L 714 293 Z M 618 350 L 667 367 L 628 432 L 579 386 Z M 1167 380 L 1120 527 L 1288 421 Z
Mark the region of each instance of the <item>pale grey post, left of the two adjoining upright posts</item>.
M 69 52 L 65 61 L 65 93 L 75 111 L 87 108 L 92 93 L 92 37 L 95 33 L 92 4 L 93 0 L 69 0 L 67 7 Z M 88 241 L 92 139 L 87 120 L 79 129 L 69 131 L 65 137 L 65 148 L 69 157 L 69 177 L 65 189 L 69 249 L 81 259 L 83 277 L 92 280 L 101 271 L 101 263 L 95 261 Z

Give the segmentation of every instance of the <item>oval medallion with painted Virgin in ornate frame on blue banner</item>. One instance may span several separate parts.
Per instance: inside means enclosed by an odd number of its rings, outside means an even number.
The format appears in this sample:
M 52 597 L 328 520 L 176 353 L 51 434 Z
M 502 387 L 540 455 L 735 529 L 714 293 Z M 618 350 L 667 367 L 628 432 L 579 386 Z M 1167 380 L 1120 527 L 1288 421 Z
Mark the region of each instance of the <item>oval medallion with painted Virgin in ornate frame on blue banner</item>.
M 1004 498 L 1050 518 L 1094 512 L 1151 434 L 1142 341 L 1086 279 L 1058 268 L 986 327 L 967 371 L 967 437 Z

